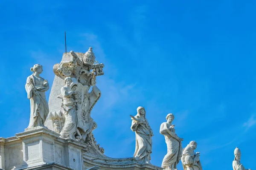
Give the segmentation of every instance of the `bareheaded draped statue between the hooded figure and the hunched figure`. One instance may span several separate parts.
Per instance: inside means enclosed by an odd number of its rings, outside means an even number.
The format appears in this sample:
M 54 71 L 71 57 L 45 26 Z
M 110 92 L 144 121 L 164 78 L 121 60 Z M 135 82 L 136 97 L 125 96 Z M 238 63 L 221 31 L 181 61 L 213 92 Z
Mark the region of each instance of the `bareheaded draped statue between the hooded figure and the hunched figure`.
M 160 133 L 164 135 L 167 144 L 167 154 L 163 158 L 162 167 L 164 170 L 175 170 L 182 155 L 181 141 L 175 133 L 175 125 L 172 125 L 174 115 L 169 113 L 166 116 L 167 122 L 163 122 L 160 126 Z

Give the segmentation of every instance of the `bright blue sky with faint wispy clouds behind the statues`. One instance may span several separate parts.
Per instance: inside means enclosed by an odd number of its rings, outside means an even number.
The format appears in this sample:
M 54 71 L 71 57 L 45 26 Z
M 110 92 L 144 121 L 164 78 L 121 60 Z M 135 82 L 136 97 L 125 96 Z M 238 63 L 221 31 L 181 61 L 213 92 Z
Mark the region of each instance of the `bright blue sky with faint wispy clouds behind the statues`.
M 28 126 L 26 77 L 40 63 L 52 85 L 66 31 L 67 51 L 92 46 L 105 64 L 91 115 L 107 156 L 133 156 L 129 115 L 143 106 L 154 132 L 152 164 L 161 166 L 167 152 L 159 128 L 173 113 L 183 147 L 198 142 L 205 170 L 232 169 L 235 147 L 241 163 L 256 169 L 255 0 L 2 0 L 0 6 L 0 136 Z

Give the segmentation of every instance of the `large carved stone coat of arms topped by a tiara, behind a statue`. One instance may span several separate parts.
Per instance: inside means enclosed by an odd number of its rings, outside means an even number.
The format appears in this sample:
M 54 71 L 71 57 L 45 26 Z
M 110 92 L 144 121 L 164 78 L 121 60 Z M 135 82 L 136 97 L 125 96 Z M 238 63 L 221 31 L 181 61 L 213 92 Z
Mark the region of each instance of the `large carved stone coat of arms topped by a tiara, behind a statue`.
M 104 74 L 103 67 L 103 63 L 95 61 L 95 55 L 91 47 L 86 53 L 70 51 L 70 53 L 63 54 L 61 63 L 53 66 L 56 76 L 49 96 L 50 113 L 45 123 L 50 130 L 59 133 L 64 128 L 65 111 L 62 107 L 63 96 L 60 94 L 60 89 L 63 86 L 66 87 L 64 79 L 72 77 L 73 82 L 69 89 L 71 89 L 70 91 L 74 91 L 73 99 L 76 101 L 76 126 L 79 130 L 77 134 L 81 134 L 78 137 L 81 137 L 80 140 L 83 142 L 87 142 L 87 138 L 88 140 L 91 138 L 92 130 L 97 127 L 96 122 L 91 117 L 91 111 L 101 96 L 101 91 L 96 86 L 96 77 Z M 70 112 L 73 112 L 73 110 L 71 109 Z M 102 152 L 102 149 L 100 150 Z

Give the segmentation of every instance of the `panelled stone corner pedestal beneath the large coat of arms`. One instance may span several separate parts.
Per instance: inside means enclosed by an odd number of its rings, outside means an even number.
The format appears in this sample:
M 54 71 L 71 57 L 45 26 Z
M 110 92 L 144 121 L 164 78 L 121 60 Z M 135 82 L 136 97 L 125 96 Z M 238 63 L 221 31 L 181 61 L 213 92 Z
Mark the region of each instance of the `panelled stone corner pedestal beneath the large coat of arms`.
M 61 139 L 59 134 L 42 127 L 0 141 L 2 169 L 24 169 L 43 164 L 58 164 L 82 170 L 82 152 L 86 144 Z M 3 164 L 5 160 L 5 164 Z M 56 168 L 55 168 L 56 169 Z

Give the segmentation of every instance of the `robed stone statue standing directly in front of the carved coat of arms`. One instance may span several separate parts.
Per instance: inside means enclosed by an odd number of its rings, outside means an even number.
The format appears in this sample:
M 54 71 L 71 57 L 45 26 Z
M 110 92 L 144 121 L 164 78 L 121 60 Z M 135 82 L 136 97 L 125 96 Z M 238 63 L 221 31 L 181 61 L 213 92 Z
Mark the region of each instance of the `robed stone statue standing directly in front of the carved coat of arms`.
M 66 77 L 65 86 L 61 88 L 62 108 L 65 116 L 64 127 L 61 130 L 61 138 L 81 139 L 81 134 L 77 129 L 78 119 L 76 113 L 76 100 L 74 99 L 75 91 L 72 91 L 70 85 L 71 77 Z

